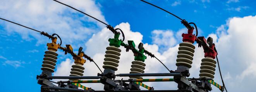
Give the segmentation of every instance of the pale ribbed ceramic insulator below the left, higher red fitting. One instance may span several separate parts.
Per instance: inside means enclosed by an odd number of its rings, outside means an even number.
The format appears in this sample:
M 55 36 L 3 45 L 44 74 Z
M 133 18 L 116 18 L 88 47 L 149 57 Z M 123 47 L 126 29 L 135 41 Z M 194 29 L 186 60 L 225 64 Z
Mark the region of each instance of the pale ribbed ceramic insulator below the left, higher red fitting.
M 190 42 L 183 42 L 179 44 L 179 51 L 176 59 L 176 66 L 185 66 L 191 68 L 195 46 Z

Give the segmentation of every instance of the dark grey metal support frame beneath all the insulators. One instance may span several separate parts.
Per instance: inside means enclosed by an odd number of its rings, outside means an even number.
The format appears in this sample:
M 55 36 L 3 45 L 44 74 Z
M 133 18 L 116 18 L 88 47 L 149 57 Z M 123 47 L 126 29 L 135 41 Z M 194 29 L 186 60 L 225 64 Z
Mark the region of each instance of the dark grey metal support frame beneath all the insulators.
M 41 90 L 57 92 L 60 90 L 72 91 L 71 89 L 77 89 L 77 86 L 72 83 L 102 83 L 104 84 L 104 92 L 108 91 L 120 91 L 120 92 L 143 92 L 144 90 L 139 89 L 139 85 L 136 82 L 157 82 L 157 81 L 175 81 L 178 84 L 178 90 L 147 90 L 148 91 L 161 91 L 161 92 L 208 92 L 211 87 L 208 85 L 208 80 L 211 78 L 186 78 L 189 72 L 171 72 L 171 73 L 145 73 L 145 74 L 113 74 L 103 73 L 98 76 L 47 76 L 40 75 L 38 83 L 42 85 Z M 132 79 L 132 80 L 114 80 L 115 76 L 126 77 L 126 76 L 174 76 L 174 79 Z M 100 80 L 89 80 L 89 81 L 60 81 L 58 86 L 52 84 L 49 79 L 100 79 Z M 191 82 L 190 82 L 191 81 Z M 200 81 L 200 82 L 198 82 Z M 129 82 L 129 84 L 125 83 Z M 64 83 L 67 83 L 65 85 Z M 206 85 L 205 85 L 206 84 Z M 47 85 L 47 86 L 45 86 Z M 75 87 L 74 87 L 75 86 Z M 66 87 L 66 88 L 64 88 Z M 151 88 L 151 87 L 149 87 Z M 209 89 L 210 88 L 210 89 Z M 47 89 L 47 90 L 46 90 Z M 74 90 L 81 91 L 81 90 Z M 84 90 L 92 92 L 94 90 Z M 103 92 L 103 91 L 94 91 Z

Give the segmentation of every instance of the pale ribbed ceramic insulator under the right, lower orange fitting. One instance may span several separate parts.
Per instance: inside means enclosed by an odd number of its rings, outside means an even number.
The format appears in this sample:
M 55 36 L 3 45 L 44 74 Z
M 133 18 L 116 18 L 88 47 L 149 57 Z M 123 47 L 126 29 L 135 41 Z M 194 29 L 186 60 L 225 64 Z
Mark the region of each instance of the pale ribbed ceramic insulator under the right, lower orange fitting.
M 72 65 L 70 75 L 69 76 L 83 76 L 84 74 L 84 67 L 81 64 L 74 64 Z M 80 79 L 69 79 L 70 81 L 78 81 Z

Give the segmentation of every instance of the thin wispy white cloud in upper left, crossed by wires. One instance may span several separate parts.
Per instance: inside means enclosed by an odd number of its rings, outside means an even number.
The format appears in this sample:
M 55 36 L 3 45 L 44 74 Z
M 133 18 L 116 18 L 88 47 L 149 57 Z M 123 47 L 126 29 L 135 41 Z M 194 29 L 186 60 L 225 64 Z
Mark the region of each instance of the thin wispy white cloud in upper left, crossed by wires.
M 60 2 L 84 11 L 107 23 L 100 11 L 100 5 L 93 0 L 60 0 Z M 102 23 L 89 18 L 87 15 L 52 0 L 3 0 L 0 3 L 0 13 L 1 18 L 21 23 L 49 34 L 57 33 L 62 38 L 63 44 L 81 45 L 82 42 L 86 42 L 84 39 L 89 39 L 98 29 L 105 27 Z M 88 22 L 91 25 L 84 25 L 82 22 Z M 36 45 L 51 42 L 33 30 L 6 21 L 1 21 L 0 23 L 4 26 L 3 29 L 6 30 L 4 32 L 7 35 L 18 33 L 26 41 L 37 39 Z

